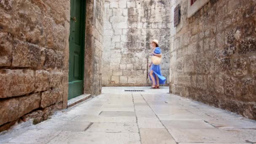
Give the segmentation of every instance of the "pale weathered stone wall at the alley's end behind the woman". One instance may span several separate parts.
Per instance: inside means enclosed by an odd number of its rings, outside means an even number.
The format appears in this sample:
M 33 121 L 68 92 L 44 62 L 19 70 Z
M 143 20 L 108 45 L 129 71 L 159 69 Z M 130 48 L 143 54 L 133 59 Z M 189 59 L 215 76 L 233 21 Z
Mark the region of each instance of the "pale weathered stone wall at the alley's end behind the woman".
M 159 40 L 162 72 L 169 77 L 170 8 L 170 0 L 105 0 L 103 85 L 151 83 L 147 65 L 153 39 Z

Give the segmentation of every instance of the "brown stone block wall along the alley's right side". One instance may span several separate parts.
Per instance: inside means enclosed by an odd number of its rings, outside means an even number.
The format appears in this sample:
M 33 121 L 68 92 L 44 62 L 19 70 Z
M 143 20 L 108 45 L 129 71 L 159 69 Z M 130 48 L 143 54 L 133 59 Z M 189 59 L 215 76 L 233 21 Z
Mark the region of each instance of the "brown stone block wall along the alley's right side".
M 189 19 L 187 1 L 172 2 L 170 92 L 256 119 L 256 0 L 210 0 Z

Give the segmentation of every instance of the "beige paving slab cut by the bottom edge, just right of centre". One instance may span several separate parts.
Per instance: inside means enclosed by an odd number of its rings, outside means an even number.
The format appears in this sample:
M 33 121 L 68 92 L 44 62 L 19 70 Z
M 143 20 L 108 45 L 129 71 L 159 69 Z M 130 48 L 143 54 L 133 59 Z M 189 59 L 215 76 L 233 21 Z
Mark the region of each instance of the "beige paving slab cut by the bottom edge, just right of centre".
M 165 128 L 140 128 L 141 144 L 176 144 Z

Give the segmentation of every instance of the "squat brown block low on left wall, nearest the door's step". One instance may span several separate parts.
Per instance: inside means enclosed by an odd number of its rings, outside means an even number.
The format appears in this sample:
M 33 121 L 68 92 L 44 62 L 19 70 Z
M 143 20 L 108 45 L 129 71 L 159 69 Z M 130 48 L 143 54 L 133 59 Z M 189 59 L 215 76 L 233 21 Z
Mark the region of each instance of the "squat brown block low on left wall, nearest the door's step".
M 61 88 L 54 88 L 53 90 L 45 91 L 41 96 L 40 107 L 45 108 L 53 104 L 57 104 L 62 101 Z

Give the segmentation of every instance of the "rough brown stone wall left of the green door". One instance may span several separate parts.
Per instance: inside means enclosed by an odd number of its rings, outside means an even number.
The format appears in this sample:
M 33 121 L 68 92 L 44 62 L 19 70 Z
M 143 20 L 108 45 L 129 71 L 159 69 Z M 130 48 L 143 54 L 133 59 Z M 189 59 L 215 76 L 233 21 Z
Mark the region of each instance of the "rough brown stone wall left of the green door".
M 0 131 L 67 107 L 69 0 L 0 0 Z M 64 77 L 65 75 L 65 77 Z M 64 102 L 63 102 L 64 101 Z

